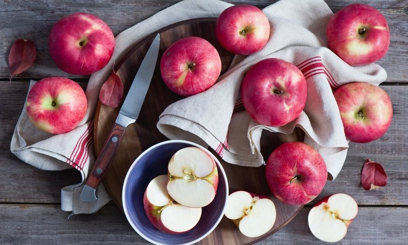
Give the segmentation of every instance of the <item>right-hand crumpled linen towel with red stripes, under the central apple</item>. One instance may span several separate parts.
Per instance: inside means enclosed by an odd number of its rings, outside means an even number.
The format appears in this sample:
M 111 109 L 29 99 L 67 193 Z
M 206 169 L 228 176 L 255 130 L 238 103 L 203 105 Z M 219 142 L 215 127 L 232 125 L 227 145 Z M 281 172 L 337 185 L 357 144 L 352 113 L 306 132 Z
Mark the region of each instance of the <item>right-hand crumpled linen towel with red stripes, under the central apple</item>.
M 263 132 L 289 135 L 298 127 L 305 133 L 304 142 L 322 155 L 328 179 L 333 180 L 348 149 L 333 90 L 354 81 L 378 85 L 386 80 L 386 71 L 376 64 L 349 66 L 326 47 L 326 24 L 333 13 L 321 0 L 281 0 L 263 12 L 271 24 L 266 46 L 231 67 L 207 91 L 168 106 L 157 127 L 170 139 L 205 142 L 226 162 L 253 167 L 265 164 L 268 157 L 260 152 Z M 295 64 L 308 84 L 304 110 L 282 127 L 259 125 L 240 103 L 245 72 L 272 57 Z

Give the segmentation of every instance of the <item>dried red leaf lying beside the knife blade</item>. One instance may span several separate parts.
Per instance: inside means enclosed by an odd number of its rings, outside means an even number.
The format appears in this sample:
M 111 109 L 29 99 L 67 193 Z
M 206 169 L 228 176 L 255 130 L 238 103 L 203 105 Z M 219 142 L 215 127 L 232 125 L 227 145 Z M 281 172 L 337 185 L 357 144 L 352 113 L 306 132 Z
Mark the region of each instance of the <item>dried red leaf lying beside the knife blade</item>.
M 105 81 L 99 91 L 99 101 L 110 107 L 117 107 L 120 105 L 123 96 L 123 83 L 116 75 L 112 72 L 112 75 Z

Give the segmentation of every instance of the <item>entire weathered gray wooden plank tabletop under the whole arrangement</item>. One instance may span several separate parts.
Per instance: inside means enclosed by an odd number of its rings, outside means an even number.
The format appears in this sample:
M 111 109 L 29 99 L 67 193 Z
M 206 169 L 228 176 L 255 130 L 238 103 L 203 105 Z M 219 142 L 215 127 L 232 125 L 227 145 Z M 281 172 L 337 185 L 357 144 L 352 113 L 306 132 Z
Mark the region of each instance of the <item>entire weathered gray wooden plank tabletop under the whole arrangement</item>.
M 114 3 L 112 3 L 114 2 Z M 74 215 L 61 210 L 61 188 L 81 181 L 77 170 L 45 171 L 28 165 L 10 152 L 10 141 L 24 106 L 30 79 L 65 76 L 84 88 L 89 77 L 71 76 L 57 68 L 48 52 L 53 24 L 73 12 L 89 12 L 109 24 L 115 36 L 176 0 L 159 1 L 0 1 L 0 244 L 147 244 L 127 223 L 113 202 L 94 214 Z M 260 8 L 276 1 L 226 1 Z M 336 12 L 352 3 L 327 0 Z M 351 195 L 359 213 L 346 237 L 338 244 L 406 244 L 408 235 L 408 1 L 361 0 L 386 16 L 391 30 L 388 54 L 379 62 L 387 70 L 380 86 L 390 95 L 394 117 L 389 131 L 366 144 L 350 143 L 343 169 L 328 182 L 319 198 L 337 192 Z M 37 45 L 36 63 L 13 78 L 8 53 L 16 39 Z M 381 163 L 388 185 L 365 191 L 360 184 L 365 159 Z M 324 244 L 309 230 L 307 216 L 315 202 L 306 205 L 283 229 L 258 244 Z

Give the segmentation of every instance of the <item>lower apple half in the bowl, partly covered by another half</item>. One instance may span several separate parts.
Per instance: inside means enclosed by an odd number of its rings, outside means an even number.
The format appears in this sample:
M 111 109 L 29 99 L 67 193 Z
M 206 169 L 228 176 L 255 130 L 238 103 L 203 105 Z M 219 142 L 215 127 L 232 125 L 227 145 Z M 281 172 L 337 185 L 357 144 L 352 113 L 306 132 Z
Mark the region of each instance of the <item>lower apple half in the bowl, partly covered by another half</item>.
M 160 231 L 181 234 L 191 230 L 201 217 L 201 208 L 176 203 L 167 193 L 167 175 L 150 181 L 144 192 L 143 206 L 150 223 Z

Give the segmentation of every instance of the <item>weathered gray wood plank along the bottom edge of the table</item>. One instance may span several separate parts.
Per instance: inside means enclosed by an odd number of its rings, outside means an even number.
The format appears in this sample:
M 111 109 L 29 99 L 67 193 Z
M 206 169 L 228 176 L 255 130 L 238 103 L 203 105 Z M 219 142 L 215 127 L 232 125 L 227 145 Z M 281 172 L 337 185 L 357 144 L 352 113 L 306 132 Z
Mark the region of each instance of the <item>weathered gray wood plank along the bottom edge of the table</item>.
M 112 203 L 101 208 L 98 215 L 81 214 L 68 220 L 67 213 L 61 212 L 58 205 L 0 204 L 0 209 L 0 243 L 4 245 L 150 244 L 132 229 Z M 310 232 L 309 210 L 303 208 L 286 227 L 258 244 L 327 244 Z M 408 221 L 402 218 L 406 215 L 406 207 L 359 207 L 348 234 L 336 244 L 403 244 L 408 238 Z

